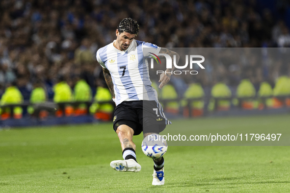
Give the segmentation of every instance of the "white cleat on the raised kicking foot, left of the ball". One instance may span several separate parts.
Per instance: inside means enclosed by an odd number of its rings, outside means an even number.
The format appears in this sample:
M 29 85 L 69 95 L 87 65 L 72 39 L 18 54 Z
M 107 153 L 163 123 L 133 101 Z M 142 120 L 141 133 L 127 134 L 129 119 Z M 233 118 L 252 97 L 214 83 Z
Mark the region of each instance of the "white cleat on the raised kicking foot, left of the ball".
M 115 160 L 110 163 L 112 169 L 116 171 L 133 171 L 139 172 L 141 170 L 140 164 L 138 164 L 135 160 Z

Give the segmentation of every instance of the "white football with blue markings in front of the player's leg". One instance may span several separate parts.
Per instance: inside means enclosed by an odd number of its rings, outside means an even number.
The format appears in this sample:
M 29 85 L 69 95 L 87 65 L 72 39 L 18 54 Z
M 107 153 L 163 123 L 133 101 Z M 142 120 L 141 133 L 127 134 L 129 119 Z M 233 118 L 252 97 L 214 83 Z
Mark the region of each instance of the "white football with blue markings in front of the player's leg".
M 167 142 L 158 134 L 151 134 L 142 141 L 142 150 L 150 158 L 160 158 L 167 151 Z

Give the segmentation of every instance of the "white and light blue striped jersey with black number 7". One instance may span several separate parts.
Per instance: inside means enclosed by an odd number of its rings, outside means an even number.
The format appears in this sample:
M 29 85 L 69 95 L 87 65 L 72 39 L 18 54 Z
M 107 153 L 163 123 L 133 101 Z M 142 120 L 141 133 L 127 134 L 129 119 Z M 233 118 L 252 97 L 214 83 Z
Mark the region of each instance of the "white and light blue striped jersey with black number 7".
M 115 40 L 116 41 L 116 40 Z M 114 42 L 115 42 L 114 41 Z M 157 54 L 160 47 L 151 43 L 133 40 L 129 48 L 121 51 L 113 43 L 97 51 L 97 61 L 103 68 L 108 69 L 114 84 L 115 103 L 132 100 L 157 100 L 156 90 L 151 86 L 147 60 L 148 49 Z

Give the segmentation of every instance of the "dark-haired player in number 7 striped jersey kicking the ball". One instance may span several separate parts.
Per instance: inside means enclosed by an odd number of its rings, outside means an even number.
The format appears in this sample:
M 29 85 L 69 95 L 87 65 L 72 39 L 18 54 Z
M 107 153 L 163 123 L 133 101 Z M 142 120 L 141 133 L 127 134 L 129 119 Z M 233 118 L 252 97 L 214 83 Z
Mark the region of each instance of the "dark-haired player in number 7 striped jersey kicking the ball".
M 103 67 L 105 81 L 116 103 L 113 128 L 121 142 L 124 158 L 110 163 L 110 166 L 117 171 L 141 170 L 141 166 L 136 161 L 133 135 L 139 135 L 143 131 L 143 136 L 146 137 L 161 132 L 166 124 L 171 124 L 158 102 L 156 90 L 151 86 L 148 62 L 147 60 L 144 62 L 143 59 L 149 53 L 166 53 L 172 58 L 176 55 L 178 62 L 179 55 L 166 48 L 135 40 L 138 32 L 139 25 L 135 20 L 123 19 L 116 29 L 117 39 L 100 48 L 96 56 Z M 144 51 L 144 48 L 149 51 Z M 166 69 L 165 72 L 160 75 L 159 88 L 170 80 L 172 69 Z M 153 161 L 152 185 L 163 185 L 164 158 L 153 159 Z

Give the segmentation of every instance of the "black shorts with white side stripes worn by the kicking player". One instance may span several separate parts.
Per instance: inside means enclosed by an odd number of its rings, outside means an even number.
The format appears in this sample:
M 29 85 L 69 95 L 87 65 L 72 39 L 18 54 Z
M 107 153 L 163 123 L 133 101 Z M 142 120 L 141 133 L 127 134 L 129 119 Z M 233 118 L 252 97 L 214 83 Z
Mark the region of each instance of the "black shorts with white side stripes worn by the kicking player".
M 114 111 L 113 128 L 128 125 L 134 135 L 143 133 L 159 133 L 166 124 L 171 124 L 163 113 L 161 104 L 155 100 L 123 101 Z

